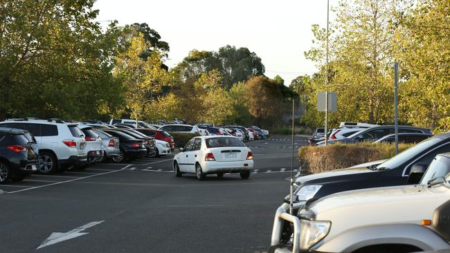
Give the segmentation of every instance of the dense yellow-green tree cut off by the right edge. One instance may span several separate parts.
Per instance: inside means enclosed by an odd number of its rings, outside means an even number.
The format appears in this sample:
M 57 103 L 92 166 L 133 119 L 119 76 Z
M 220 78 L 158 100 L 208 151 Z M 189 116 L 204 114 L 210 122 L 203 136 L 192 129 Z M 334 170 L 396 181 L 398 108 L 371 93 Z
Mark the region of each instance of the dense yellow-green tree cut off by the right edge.
M 399 12 L 395 57 L 401 113 L 409 122 L 436 131 L 450 129 L 450 5 L 420 0 L 417 7 Z

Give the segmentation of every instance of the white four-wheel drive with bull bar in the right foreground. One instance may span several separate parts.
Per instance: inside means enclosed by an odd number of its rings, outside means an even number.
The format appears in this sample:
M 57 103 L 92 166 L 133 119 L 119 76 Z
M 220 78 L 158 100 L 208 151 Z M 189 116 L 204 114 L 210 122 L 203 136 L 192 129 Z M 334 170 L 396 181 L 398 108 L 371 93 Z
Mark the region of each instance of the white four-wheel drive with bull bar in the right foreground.
M 282 205 L 269 252 L 422 252 L 450 250 L 450 153 L 436 156 L 419 185 L 360 189 L 310 201 L 297 216 Z M 358 217 L 358 218 L 354 218 Z M 284 220 L 291 250 L 280 247 Z M 290 237 L 290 236 L 289 236 Z M 290 246 L 289 246 L 290 247 Z

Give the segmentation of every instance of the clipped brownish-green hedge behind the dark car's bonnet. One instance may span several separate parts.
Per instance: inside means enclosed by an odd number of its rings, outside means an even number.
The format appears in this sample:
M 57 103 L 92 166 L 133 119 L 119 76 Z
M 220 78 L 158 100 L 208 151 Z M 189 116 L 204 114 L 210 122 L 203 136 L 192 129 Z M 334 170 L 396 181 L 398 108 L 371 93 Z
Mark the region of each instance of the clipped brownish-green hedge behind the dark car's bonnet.
M 413 144 L 399 144 L 404 151 Z M 363 162 L 388 159 L 395 155 L 395 144 L 361 142 L 358 144 L 330 144 L 318 147 L 300 147 L 298 160 L 303 173 L 314 174 L 333 169 L 343 169 Z

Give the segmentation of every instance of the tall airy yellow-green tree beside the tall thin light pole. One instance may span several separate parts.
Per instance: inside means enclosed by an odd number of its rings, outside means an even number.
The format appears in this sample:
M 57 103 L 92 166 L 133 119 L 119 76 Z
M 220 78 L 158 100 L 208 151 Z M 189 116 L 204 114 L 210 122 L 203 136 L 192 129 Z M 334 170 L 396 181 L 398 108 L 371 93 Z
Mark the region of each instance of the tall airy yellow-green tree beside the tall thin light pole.
M 328 86 L 323 79 L 314 92 L 327 89 L 338 93 L 339 111 L 331 113 L 332 120 L 384 123 L 393 119 L 393 31 L 389 21 L 396 3 L 340 1 L 330 35 L 328 66 L 324 63 L 325 30 L 313 26 L 317 47 L 305 55 L 318 62 L 321 76 L 329 73 Z

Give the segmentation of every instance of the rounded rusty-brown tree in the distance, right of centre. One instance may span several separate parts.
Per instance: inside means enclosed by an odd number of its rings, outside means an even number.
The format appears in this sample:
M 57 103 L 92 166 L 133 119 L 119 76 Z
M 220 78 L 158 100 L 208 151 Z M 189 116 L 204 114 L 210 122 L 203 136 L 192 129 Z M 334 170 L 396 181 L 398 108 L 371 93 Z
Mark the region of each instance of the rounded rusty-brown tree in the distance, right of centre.
M 253 77 L 247 82 L 247 106 L 257 124 L 269 125 L 280 116 L 283 98 L 278 85 L 263 76 Z

